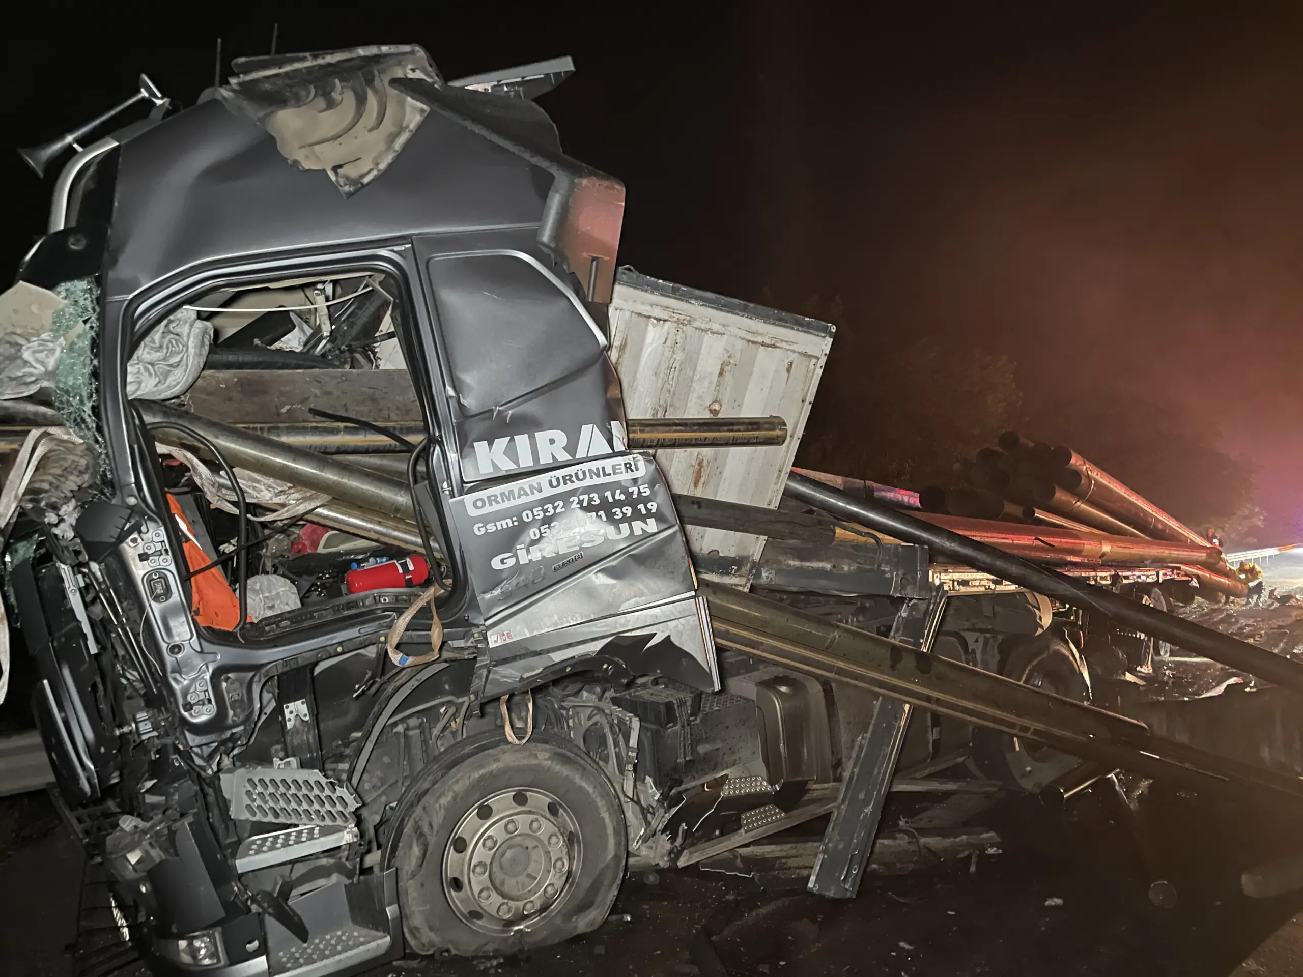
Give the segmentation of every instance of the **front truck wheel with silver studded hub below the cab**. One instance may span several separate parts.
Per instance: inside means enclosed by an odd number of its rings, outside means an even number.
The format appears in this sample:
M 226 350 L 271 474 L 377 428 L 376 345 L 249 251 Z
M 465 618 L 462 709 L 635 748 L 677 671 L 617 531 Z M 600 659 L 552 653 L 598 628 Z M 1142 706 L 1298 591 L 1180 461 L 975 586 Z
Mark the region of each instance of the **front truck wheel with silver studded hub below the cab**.
M 513 954 L 601 925 L 624 875 L 620 804 L 568 741 L 465 740 L 408 792 L 391 849 L 408 944 Z

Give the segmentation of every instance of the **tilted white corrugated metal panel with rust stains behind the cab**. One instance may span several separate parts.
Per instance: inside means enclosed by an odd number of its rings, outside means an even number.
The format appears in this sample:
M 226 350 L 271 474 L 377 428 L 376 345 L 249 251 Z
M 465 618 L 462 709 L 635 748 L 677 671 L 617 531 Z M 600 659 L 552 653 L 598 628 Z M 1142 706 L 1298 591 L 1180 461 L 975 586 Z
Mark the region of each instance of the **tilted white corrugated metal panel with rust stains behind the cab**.
M 657 452 L 670 490 L 777 508 L 835 327 L 631 268 L 616 275 L 610 323 L 629 417 L 778 414 L 787 422 L 782 447 Z M 696 526 L 687 533 L 700 572 L 751 586 L 764 537 Z

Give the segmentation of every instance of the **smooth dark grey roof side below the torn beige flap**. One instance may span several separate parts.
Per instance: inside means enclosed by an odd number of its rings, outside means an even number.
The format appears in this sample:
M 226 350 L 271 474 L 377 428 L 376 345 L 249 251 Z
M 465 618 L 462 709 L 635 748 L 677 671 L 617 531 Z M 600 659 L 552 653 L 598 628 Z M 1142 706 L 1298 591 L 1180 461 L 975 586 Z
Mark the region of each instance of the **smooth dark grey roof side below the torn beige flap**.
M 122 145 L 104 290 L 125 298 L 218 259 L 262 264 L 274 251 L 537 227 L 546 195 L 547 180 L 526 160 L 430 115 L 382 180 L 345 198 L 288 165 L 246 116 L 205 102 Z

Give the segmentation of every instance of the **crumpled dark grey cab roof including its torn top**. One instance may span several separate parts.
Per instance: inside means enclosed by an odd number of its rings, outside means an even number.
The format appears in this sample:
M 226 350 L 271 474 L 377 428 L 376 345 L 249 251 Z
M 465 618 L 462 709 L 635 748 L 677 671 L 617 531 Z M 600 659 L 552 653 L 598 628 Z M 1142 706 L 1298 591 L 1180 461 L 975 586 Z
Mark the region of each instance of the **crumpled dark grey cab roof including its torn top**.
M 464 117 L 427 111 L 427 106 L 388 85 L 388 76 L 397 70 L 403 78 L 442 89 L 464 113 L 486 120 L 489 128 L 502 130 L 508 139 L 524 138 L 532 150 L 559 156 L 556 130 L 547 115 L 525 99 L 448 89 L 433 66 L 429 72 L 410 65 L 395 68 L 394 48 L 374 51 L 375 70 L 367 69 L 367 59 L 357 52 L 336 63 L 314 56 L 306 68 L 304 56 L 298 56 L 298 81 L 306 72 L 311 85 L 300 83 L 297 89 L 268 83 L 278 68 L 259 59 L 259 64 L 245 65 L 257 69 L 249 74 L 262 79 L 258 86 L 236 78 L 216 98 L 125 142 L 109 232 L 106 297 L 125 298 L 182 268 L 215 259 L 386 237 L 538 225 L 554 172 L 477 132 L 480 126 L 468 126 Z M 287 60 L 291 72 L 281 77 L 294 81 L 294 59 Z M 335 82 L 328 77 L 331 64 L 340 72 Z M 379 100 L 386 104 L 378 106 Z M 296 143 L 285 135 L 287 129 L 294 129 L 294 111 L 285 109 L 296 106 L 300 119 L 321 108 L 326 121 L 340 124 L 318 125 L 311 138 Z M 366 178 L 358 178 L 360 168 L 349 169 L 348 154 L 340 152 L 339 142 L 306 146 L 343 133 L 347 150 L 351 129 L 365 129 L 386 115 L 397 116 L 390 133 L 400 138 L 388 142 L 391 152 L 380 154 L 383 165 L 361 168 L 367 169 Z M 268 119 L 272 130 L 280 122 L 275 137 L 266 128 Z M 304 132 L 302 125 L 298 132 Z M 287 154 L 278 149 L 278 138 Z M 305 159 L 323 169 L 304 168 Z

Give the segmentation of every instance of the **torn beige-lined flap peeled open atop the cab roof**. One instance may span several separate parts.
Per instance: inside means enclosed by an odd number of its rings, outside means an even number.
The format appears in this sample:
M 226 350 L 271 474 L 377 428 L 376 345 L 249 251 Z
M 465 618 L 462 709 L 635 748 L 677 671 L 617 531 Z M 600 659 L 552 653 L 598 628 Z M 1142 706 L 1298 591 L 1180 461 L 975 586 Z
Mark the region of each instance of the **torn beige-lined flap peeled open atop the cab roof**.
M 430 111 L 390 82 L 442 83 L 414 44 L 242 57 L 232 66 L 241 74 L 218 89 L 218 99 L 271 133 L 300 169 L 326 171 L 345 197 L 388 168 Z

